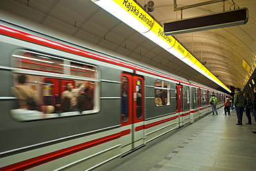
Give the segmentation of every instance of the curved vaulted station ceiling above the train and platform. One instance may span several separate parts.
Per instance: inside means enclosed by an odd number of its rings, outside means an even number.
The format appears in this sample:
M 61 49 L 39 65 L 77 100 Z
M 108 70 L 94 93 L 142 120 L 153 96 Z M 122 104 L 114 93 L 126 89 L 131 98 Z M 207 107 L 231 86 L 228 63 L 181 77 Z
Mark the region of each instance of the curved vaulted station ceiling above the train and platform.
M 147 1 L 137 0 L 142 6 Z M 207 0 L 177 0 L 177 6 L 188 6 L 203 1 Z M 233 1 L 240 8 L 248 8 L 247 24 L 184 33 L 174 37 L 194 57 L 205 63 L 205 67 L 223 84 L 244 89 L 256 67 L 256 1 Z M 156 66 L 188 80 L 221 89 L 219 85 L 123 24 L 90 0 L 0 0 L 0 2 L 1 10 Z M 232 0 L 225 2 L 225 10 L 230 8 L 234 9 Z M 183 19 L 222 11 L 223 2 L 212 3 L 183 10 Z M 181 19 L 181 11 L 174 12 L 173 0 L 154 0 L 154 11 L 150 14 L 161 24 L 165 21 Z M 243 60 L 250 66 L 249 71 L 243 67 Z

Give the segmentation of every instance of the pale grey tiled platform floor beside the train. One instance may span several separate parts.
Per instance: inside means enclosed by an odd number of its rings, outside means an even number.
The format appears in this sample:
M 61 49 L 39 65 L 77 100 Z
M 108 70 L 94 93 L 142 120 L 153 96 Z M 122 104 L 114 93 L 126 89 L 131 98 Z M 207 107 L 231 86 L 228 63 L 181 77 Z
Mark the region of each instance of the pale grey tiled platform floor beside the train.
M 145 152 L 113 169 L 113 171 L 250 171 L 256 170 L 256 123 L 237 123 L 236 111 L 223 116 L 208 115 Z

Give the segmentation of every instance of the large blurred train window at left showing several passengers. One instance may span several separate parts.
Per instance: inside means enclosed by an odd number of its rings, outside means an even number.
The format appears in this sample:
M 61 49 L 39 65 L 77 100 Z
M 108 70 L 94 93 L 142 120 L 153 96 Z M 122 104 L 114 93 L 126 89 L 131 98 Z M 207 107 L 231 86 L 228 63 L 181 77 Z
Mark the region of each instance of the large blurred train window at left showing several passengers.
M 99 80 L 95 66 L 32 51 L 15 51 L 12 57 L 13 66 L 19 68 L 13 71 L 11 87 L 13 96 L 17 97 L 11 109 L 16 120 L 99 111 Z

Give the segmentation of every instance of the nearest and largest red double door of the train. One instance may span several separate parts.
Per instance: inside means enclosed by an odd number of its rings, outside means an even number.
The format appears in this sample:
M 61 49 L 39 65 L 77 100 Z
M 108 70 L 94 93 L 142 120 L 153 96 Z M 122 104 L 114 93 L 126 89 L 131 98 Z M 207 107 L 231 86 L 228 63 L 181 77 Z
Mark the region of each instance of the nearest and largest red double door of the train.
M 122 73 L 121 126 L 122 152 L 131 152 L 144 145 L 144 78 Z

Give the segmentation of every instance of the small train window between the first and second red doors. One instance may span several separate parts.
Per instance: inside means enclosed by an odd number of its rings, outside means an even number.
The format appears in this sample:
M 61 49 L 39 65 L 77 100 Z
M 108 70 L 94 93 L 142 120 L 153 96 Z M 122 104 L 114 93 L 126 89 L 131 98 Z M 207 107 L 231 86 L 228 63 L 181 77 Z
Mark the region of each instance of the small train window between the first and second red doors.
M 170 105 L 170 82 L 155 80 L 155 105 Z

